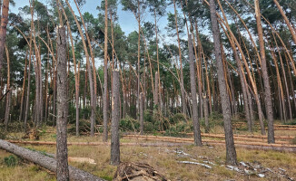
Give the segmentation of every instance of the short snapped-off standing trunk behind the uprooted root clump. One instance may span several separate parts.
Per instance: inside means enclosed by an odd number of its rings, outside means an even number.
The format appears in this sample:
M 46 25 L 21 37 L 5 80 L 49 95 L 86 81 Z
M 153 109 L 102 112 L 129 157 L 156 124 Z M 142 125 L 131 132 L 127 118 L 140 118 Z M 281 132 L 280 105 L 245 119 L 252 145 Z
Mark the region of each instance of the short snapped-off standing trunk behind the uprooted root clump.
M 119 119 L 120 119 L 120 80 L 119 71 L 113 71 L 112 85 L 112 130 L 111 130 L 111 158 L 110 163 L 113 166 L 120 164 L 120 141 L 119 141 Z

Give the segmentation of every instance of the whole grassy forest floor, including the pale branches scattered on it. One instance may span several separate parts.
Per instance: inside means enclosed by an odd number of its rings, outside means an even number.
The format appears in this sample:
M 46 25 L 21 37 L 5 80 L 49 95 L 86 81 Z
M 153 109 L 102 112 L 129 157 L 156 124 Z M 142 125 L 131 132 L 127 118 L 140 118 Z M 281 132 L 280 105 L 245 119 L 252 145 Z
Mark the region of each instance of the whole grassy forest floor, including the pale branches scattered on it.
M 56 136 L 53 128 L 45 128 L 39 141 L 54 141 Z M 234 134 L 250 134 L 244 130 L 235 129 Z M 221 126 L 212 129 L 212 133 L 223 133 Z M 258 134 L 258 133 L 254 133 Z M 259 134 L 258 134 L 259 135 Z M 295 130 L 276 130 L 276 136 L 296 136 Z M 12 133 L 10 138 L 21 138 L 21 133 Z M 7 138 L 9 139 L 9 138 Z M 29 139 L 22 139 L 29 140 Z M 102 137 L 69 135 L 69 142 L 101 142 Z M 158 140 L 143 140 L 138 138 L 121 138 L 122 143 L 159 143 Z M 23 145 L 46 153 L 55 153 L 54 145 Z M 236 148 L 239 167 L 225 166 L 225 147 L 221 145 L 202 148 L 193 145 L 179 147 L 141 147 L 122 146 L 121 161 L 141 162 L 154 167 L 158 173 L 171 180 L 291 180 L 296 179 L 296 153 L 273 150 L 252 150 Z M 87 172 L 112 180 L 116 167 L 111 166 L 109 146 L 68 146 L 69 157 L 89 157 L 96 165 L 89 163 L 69 162 L 71 166 L 79 167 Z M 7 165 L 7 159 L 12 154 L 0 150 L 0 181 L 49 181 L 55 180 L 54 173 L 31 163 L 20 161 L 13 166 Z M 7 158 L 8 157 L 8 158 Z M 5 161 L 6 160 L 6 161 Z M 185 164 L 199 163 L 199 165 Z M 183 163 L 182 163 L 183 162 Z M 201 165 L 204 164 L 204 165 Z M 209 166 L 209 167 L 208 167 Z M 245 166 L 245 167 L 243 167 Z M 211 167 L 211 168 L 210 168 Z M 248 168 L 246 168 L 248 167 Z M 249 169 L 252 167 L 251 169 Z M 237 169 L 238 168 L 238 169 Z M 264 176 L 264 177 L 261 177 Z

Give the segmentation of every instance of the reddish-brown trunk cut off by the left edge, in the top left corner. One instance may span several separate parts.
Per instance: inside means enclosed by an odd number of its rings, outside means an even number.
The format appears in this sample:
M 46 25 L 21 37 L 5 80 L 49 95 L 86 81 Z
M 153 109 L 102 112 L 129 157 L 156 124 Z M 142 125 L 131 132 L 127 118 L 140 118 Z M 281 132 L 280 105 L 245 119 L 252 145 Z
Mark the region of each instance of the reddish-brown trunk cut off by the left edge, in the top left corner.
M 0 79 L 2 79 L 2 69 L 4 62 L 5 53 L 5 41 L 6 41 L 6 25 L 8 23 L 8 9 L 9 0 L 3 0 L 2 4 L 2 15 L 1 15 L 1 26 L 0 26 Z

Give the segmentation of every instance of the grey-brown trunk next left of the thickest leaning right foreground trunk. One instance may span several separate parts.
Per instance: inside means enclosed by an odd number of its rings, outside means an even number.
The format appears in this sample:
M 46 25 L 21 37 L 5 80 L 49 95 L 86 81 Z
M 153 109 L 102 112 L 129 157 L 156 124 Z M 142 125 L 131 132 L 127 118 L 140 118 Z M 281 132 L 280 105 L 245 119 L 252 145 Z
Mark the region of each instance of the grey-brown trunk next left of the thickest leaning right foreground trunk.
M 190 83 L 191 83 L 191 93 L 192 93 L 192 122 L 193 122 L 193 135 L 194 144 L 196 146 L 202 146 L 202 136 L 200 129 L 200 122 L 198 119 L 198 107 L 196 99 L 196 81 L 195 81 L 195 66 L 194 66 L 194 56 L 192 50 L 192 34 L 188 34 L 188 49 L 189 49 L 189 59 L 190 59 Z M 200 98 L 202 99 L 202 98 Z M 201 105 L 202 106 L 202 105 Z

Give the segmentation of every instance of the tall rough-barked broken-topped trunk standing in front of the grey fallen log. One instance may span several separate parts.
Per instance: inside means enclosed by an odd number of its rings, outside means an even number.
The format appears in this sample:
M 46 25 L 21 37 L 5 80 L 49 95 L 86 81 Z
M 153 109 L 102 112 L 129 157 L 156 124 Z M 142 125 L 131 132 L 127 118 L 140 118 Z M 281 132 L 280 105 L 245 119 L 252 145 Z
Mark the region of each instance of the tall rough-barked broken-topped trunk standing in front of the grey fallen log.
M 67 61 L 65 28 L 58 27 L 57 34 L 57 119 L 56 119 L 56 178 L 69 180 L 67 152 Z

